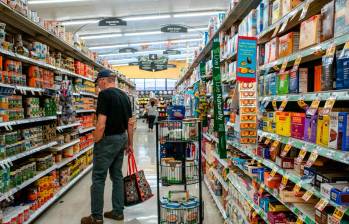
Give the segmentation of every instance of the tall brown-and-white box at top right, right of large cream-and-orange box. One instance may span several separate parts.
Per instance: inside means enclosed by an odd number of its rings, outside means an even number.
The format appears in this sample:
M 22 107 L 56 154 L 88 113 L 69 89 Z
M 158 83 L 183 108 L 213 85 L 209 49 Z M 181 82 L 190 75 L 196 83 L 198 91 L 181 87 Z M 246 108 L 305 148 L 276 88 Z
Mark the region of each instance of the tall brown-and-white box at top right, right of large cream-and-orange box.
M 330 1 L 321 9 L 321 42 L 333 37 L 334 32 L 334 2 Z

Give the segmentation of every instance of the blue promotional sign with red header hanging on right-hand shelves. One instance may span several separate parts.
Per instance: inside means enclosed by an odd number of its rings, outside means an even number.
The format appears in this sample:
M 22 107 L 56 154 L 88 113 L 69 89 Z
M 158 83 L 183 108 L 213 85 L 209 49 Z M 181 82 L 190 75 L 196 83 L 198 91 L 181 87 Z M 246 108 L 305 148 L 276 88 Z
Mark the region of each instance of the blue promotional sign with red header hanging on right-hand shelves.
M 257 38 L 238 38 L 236 79 L 242 82 L 255 82 L 257 69 Z

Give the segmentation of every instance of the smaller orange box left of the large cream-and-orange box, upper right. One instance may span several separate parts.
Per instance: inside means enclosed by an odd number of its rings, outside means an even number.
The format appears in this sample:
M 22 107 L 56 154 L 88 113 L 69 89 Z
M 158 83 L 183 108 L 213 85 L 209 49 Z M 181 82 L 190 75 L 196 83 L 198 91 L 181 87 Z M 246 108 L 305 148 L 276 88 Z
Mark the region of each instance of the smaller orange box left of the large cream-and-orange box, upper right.
M 279 57 L 286 57 L 299 49 L 299 33 L 290 32 L 279 37 Z

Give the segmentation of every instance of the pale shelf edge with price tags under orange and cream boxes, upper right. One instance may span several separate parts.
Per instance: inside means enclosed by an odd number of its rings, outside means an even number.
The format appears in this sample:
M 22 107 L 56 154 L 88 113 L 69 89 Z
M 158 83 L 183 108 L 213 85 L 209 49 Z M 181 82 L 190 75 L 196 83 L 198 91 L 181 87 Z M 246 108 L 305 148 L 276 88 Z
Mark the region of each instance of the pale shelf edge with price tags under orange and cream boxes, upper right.
M 299 56 L 302 57 L 302 63 L 308 62 L 312 60 L 316 60 L 321 58 L 320 55 L 315 55 L 314 53 L 319 51 L 326 51 L 327 48 L 330 48 L 332 44 L 335 44 L 336 46 L 343 45 L 345 42 L 347 42 L 349 39 L 349 33 L 343 34 L 341 36 L 329 39 L 327 41 L 324 41 L 322 43 L 319 43 L 317 45 L 314 45 L 313 47 L 306 48 L 304 50 L 300 50 L 298 52 L 295 52 L 291 54 L 290 56 L 279 58 L 278 60 L 264 64 L 259 67 L 259 70 L 269 70 L 273 68 L 276 65 L 281 65 L 284 63 L 285 60 L 288 61 L 288 64 L 291 62 L 294 62 Z

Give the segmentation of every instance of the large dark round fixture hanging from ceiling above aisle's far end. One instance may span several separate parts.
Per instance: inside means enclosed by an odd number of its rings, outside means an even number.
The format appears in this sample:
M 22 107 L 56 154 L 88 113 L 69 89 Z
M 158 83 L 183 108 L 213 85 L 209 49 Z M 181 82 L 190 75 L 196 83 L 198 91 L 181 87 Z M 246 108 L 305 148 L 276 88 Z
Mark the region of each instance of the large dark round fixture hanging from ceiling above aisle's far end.
M 165 56 L 159 57 L 157 54 L 138 57 L 139 69 L 144 71 L 163 71 L 168 68 L 168 58 Z

